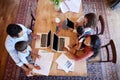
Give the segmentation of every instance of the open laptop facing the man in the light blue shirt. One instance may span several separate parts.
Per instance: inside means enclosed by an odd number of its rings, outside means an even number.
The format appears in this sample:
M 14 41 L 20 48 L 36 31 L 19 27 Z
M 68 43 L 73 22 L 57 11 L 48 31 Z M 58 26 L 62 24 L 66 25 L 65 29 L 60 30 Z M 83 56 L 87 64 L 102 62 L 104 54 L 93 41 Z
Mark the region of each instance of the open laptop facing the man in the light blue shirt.
M 47 48 L 51 42 L 51 31 L 48 33 L 37 33 L 40 35 L 40 39 L 36 40 L 35 48 Z

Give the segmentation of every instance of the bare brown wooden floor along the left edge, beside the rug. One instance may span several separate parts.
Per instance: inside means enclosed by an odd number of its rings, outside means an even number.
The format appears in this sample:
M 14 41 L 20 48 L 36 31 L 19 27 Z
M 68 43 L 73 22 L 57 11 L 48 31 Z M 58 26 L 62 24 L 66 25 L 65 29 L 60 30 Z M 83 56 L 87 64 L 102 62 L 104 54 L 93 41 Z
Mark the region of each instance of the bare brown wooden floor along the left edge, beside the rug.
M 4 43 L 6 39 L 6 27 L 16 20 L 16 14 L 20 0 L 0 0 L 0 80 L 2 80 L 8 53 Z

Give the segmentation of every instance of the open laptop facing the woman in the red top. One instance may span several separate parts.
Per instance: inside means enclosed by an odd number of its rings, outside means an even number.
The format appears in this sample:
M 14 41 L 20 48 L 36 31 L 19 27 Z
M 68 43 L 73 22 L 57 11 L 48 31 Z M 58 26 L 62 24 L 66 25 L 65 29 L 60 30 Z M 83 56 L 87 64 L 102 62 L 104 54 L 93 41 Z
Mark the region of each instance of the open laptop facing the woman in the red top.
M 58 52 L 64 52 L 63 47 L 68 47 L 70 42 L 69 37 L 53 35 L 52 49 Z

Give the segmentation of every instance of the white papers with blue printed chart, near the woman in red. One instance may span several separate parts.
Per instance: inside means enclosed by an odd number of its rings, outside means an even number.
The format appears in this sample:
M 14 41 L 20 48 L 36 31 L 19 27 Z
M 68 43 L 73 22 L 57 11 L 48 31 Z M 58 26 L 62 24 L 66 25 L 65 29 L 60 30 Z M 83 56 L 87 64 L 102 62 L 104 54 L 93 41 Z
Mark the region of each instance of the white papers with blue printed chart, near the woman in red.
M 56 60 L 58 69 L 62 69 L 65 72 L 74 71 L 74 61 L 69 59 L 65 54 L 61 54 Z

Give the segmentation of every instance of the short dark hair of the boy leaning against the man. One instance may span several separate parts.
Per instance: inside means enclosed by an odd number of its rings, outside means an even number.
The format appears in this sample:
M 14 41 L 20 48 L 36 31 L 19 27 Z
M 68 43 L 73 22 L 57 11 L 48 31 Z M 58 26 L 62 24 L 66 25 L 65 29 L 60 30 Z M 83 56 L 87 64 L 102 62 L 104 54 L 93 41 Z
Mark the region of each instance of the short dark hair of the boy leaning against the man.
M 27 41 L 19 41 L 15 44 L 15 49 L 17 51 L 24 51 L 27 48 Z

